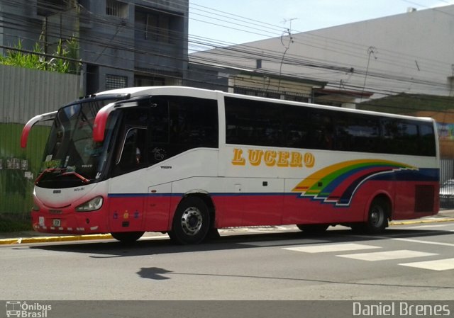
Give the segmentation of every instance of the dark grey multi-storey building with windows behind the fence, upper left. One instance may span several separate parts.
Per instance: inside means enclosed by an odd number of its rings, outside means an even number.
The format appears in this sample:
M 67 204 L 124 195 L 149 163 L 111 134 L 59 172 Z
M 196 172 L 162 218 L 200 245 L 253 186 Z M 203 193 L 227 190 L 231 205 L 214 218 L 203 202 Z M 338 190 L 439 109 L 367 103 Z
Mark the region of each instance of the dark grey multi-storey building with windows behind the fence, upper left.
M 188 12 L 189 0 L 0 0 L 0 50 L 74 39 L 83 93 L 181 84 Z

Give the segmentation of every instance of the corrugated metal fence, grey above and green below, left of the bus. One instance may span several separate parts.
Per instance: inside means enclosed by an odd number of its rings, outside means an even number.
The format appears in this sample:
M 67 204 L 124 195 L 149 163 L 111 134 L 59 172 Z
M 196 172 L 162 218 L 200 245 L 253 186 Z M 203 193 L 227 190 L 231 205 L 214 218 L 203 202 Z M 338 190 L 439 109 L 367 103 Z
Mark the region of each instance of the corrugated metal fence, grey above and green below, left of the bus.
M 79 76 L 0 65 L 0 231 L 27 225 L 33 182 L 50 126 L 37 125 L 21 148 L 21 132 L 34 115 L 57 110 L 79 96 Z

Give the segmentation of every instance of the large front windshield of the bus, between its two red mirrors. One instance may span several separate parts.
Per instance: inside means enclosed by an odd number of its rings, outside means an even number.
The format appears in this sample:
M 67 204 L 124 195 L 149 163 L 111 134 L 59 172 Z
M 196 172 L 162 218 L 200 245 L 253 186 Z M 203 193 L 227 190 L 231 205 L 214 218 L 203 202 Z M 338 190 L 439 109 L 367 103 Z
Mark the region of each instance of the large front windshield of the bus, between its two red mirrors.
M 42 170 L 37 184 L 44 186 L 57 181 L 74 186 L 100 178 L 107 158 L 112 129 L 107 129 L 103 142 L 94 142 L 94 118 L 99 109 L 115 100 L 84 101 L 73 103 L 58 111 L 43 156 Z M 110 128 L 116 116 L 112 116 Z M 73 182 L 71 182 L 73 181 Z M 54 184 L 55 186 L 55 184 Z M 61 184 L 60 187 L 65 187 Z

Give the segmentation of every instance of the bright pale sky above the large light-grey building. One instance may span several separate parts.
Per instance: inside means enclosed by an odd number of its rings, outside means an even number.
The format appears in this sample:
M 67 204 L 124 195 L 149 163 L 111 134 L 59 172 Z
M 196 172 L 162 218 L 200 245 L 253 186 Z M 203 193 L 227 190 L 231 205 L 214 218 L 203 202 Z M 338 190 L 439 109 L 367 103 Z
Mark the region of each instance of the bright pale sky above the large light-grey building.
M 189 52 L 454 4 L 454 0 L 189 0 Z

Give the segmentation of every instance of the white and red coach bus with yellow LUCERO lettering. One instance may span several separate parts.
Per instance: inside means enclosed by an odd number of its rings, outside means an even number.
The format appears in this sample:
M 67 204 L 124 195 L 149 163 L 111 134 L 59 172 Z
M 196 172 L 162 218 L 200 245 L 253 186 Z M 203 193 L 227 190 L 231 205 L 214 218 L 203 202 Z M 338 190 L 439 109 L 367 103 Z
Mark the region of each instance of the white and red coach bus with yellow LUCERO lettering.
M 35 181 L 39 232 L 167 232 L 199 243 L 224 227 L 347 225 L 438 212 L 436 124 L 185 87 L 96 93 L 53 120 Z

